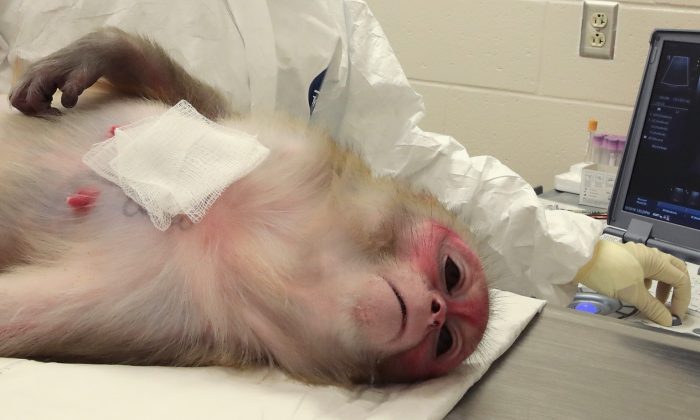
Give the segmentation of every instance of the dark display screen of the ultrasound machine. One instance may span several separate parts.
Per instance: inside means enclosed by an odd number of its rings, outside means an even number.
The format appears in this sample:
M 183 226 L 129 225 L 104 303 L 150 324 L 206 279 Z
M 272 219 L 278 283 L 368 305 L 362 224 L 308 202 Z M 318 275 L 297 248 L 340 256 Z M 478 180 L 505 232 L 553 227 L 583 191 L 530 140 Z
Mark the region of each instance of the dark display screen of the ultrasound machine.
M 700 45 L 664 42 L 624 210 L 700 229 Z

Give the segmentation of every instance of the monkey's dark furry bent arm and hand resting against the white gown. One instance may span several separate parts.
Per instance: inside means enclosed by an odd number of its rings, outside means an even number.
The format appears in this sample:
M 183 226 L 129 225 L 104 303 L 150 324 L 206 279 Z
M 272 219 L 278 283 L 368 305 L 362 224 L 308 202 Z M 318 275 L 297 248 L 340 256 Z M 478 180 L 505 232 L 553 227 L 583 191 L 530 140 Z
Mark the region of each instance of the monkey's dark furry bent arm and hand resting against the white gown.
M 61 104 L 72 108 L 100 77 L 122 93 L 170 105 L 185 99 L 209 118 L 231 113 L 222 95 L 190 76 L 160 46 L 116 28 L 90 33 L 32 64 L 13 87 L 10 102 L 28 115 L 56 114 L 51 99 L 57 89 Z

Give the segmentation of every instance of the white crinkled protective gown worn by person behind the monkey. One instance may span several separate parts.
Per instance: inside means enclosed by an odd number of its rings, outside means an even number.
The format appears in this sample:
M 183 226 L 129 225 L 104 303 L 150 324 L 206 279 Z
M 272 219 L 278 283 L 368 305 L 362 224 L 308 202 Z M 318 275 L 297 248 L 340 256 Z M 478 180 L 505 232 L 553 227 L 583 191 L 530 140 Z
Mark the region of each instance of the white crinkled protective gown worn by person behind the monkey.
M 422 131 L 422 100 L 363 1 L 3 0 L 0 93 L 14 60 L 36 60 L 105 25 L 153 38 L 235 109 L 323 125 L 376 174 L 430 190 L 471 226 L 492 286 L 570 302 L 602 224 L 542 208 L 498 160 Z

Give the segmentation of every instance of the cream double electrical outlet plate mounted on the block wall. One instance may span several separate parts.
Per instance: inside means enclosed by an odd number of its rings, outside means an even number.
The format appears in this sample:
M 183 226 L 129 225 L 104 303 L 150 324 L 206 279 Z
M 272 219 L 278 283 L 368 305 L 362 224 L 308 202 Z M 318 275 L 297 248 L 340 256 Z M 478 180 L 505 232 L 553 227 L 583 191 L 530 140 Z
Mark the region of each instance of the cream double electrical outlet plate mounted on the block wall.
M 605 58 L 615 56 L 618 3 L 584 1 L 581 19 L 581 57 Z

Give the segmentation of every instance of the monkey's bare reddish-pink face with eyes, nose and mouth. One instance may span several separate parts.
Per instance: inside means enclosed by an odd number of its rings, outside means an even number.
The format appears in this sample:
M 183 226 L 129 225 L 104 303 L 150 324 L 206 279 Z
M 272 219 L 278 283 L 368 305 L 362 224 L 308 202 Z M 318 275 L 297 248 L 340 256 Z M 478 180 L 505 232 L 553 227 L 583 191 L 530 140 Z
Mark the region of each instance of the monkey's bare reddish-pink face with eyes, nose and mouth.
M 474 251 L 450 229 L 427 221 L 410 229 L 397 264 L 366 282 L 354 316 L 384 354 L 382 381 L 443 375 L 469 356 L 489 314 L 484 272 Z

